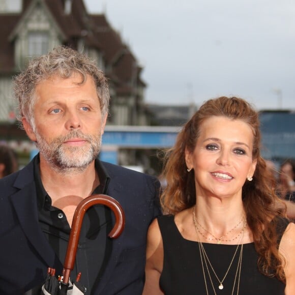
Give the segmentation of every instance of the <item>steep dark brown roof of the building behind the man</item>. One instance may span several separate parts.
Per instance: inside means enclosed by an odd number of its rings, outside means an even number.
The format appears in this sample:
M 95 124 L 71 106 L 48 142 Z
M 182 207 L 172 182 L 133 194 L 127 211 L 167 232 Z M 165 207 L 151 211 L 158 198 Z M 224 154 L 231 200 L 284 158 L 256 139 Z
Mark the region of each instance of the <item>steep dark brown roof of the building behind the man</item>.
M 132 87 L 145 86 L 140 78 L 141 67 L 130 48 L 109 24 L 104 14 L 88 14 L 83 0 L 72 1 L 71 12 L 65 12 L 66 0 L 22 0 L 22 11 L 0 15 L 0 74 L 12 74 L 14 38 L 22 28 L 22 21 L 30 15 L 34 5 L 45 5 L 60 32 L 63 44 L 77 49 L 77 40 L 83 39 L 88 47 L 103 53 L 106 75 L 113 79 L 121 93 Z M 136 83 L 133 84 L 133 81 Z M 130 92 L 129 92 L 130 93 Z

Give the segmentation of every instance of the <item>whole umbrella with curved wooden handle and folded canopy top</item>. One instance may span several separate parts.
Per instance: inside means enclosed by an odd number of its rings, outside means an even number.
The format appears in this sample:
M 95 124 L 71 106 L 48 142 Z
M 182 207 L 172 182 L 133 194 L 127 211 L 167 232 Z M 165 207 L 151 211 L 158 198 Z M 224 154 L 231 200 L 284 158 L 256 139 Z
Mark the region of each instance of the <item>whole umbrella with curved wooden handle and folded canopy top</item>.
M 125 226 L 125 215 L 124 211 L 118 201 L 114 198 L 103 195 L 96 194 L 89 196 L 83 199 L 77 206 L 73 222 L 72 228 L 70 232 L 70 239 L 67 248 L 66 258 L 64 262 L 63 272 L 60 276 L 55 276 L 55 270 L 52 268 L 48 268 L 47 277 L 42 286 L 42 293 L 45 295 L 62 295 L 62 294 L 72 294 L 72 295 L 80 295 L 83 294 L 84 287 L 79 284 L 80 273 L 77 275 L 75 282 L 70 280 L 70 273 L 74 268 L 76 252 L 80 237 L 80 230 L 83 221 L 83 217 L 85 212 L 93 205 L 103 204 L 108 206 L 115 215 L 115 225 L 108 234 L 108 237 L 115 239 L 119 237 L 122 233 Z

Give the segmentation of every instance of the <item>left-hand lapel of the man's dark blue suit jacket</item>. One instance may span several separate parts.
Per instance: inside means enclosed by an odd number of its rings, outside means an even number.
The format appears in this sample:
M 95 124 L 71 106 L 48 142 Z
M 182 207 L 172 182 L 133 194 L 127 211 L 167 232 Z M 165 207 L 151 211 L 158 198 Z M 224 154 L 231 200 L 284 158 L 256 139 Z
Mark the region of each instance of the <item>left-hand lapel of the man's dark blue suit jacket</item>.
M 11 201 L 27 239 L 32 243 L 48 267 L 53 267 L 54 261 L 56 261 L 55 253 L 39 226 L 36 187 L 33 169 L 30 169 L 32 166 L 28 167 L 29 169 L 24 168 L 20 171 L 15 181 L 15 186 L 20 190 L 11 196 Z

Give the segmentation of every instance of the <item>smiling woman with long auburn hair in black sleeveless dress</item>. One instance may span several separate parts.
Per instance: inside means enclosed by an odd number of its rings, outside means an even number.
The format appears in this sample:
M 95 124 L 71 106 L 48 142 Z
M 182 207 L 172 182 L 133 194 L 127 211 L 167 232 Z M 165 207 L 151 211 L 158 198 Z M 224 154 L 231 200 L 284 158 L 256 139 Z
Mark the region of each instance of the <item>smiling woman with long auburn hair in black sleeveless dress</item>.
M 166 156 L 163 217 L 148 232 L 143 294 L 295 294 L 295 225 L 276 209 L 257 112 L 205 102 Z

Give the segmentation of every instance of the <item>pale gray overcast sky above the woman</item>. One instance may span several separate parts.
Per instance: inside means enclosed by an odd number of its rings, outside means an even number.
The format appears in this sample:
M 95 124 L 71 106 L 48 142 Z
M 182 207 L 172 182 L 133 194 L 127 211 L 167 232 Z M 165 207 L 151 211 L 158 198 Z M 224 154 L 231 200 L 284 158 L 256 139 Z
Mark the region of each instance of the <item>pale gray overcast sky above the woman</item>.
M 147 103 L 240 96 L 295 109 L 294 0 L 84 0 L 121 32 Z

